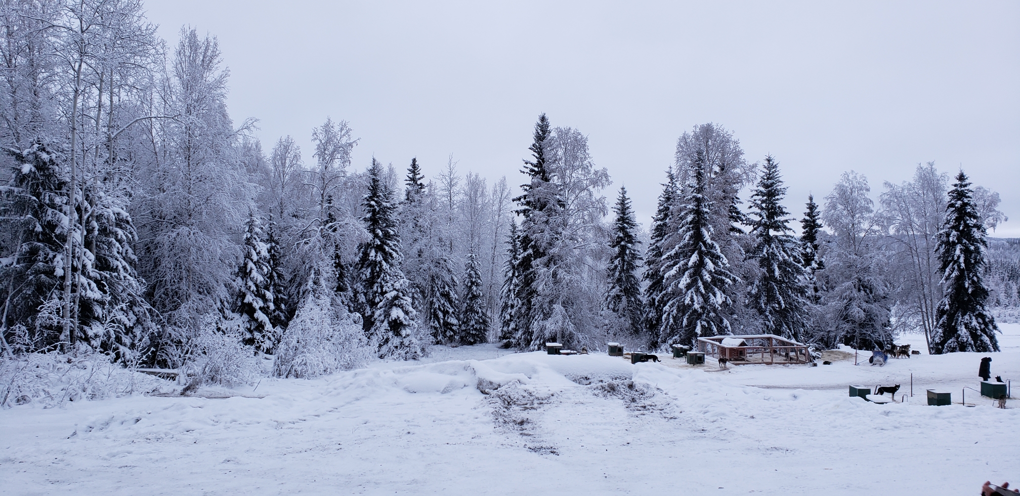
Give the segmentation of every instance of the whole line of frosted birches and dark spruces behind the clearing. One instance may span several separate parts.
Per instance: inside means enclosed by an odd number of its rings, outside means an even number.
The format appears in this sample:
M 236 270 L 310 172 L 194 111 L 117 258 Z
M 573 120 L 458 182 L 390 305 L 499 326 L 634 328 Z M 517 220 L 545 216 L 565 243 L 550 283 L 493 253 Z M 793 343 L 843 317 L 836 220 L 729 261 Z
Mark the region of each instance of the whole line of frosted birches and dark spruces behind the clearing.
M 962 171 L 951 187 L 919 165 L 878 210 L 847 172 L 795 236 L 778 161 L 749 162 L 706 123 L 678 139 L 646 232 L 625 188 L 601 195 L 588 137 L 545 114 L 519 194 L 453 156 L 431 180 L 415 158 L 359 171 L 345 120 L 311 130 L 308 161 L 290 136 L 264 150 L 227 112 L 216 39 L 182 29 L 169 48 L 138 0 L 6 1 L 0 16 L 8 356 L 178 366 L 216 335 L 302 377 L 432 344 L 769 333 L 865 348 L 918 329 L 932 352 L 983 351 L 989 298 L 1017 302 L 975 291 L 1005 217 Z M 996 288 L 1015 292 L 1010 277 Z

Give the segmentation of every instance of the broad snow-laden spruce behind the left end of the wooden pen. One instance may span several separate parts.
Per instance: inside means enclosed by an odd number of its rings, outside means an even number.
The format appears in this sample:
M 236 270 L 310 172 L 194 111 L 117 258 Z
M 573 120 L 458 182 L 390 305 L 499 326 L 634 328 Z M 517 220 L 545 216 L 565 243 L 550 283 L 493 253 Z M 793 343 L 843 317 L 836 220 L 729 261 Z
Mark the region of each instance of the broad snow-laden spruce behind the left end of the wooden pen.
M 702 336 L 730 334 L 726 287 L 738 281 L 713 241 L 715 205 L 705 195 L 706 163 L 699 152 L 687 193 L 675 215 L 672 247 L 663 254 L 663 315 L 658 342 L 693 345 Z M 667 240 L 671 241 L 671 240 Z

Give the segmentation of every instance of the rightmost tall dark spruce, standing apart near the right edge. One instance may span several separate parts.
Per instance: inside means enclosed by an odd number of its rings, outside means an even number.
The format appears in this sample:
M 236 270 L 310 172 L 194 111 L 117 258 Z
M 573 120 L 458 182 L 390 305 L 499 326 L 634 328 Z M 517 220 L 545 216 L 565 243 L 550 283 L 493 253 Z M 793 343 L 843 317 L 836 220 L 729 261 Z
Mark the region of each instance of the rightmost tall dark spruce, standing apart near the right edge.
M 935 245 L 945 293 L 935 309 L 931 352 L 999 351 L 999 328 L 987 308 L 988 289 L 983 279 L 988 242 L 963 170 L 949 197 Z

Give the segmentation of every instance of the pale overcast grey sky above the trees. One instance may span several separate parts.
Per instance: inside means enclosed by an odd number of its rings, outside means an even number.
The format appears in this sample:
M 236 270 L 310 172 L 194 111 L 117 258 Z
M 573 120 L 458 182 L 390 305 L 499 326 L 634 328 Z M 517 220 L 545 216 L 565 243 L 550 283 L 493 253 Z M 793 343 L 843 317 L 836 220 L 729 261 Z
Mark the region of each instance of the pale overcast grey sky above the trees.
M 235 121 L 266 150 L 351 122 L 371 156 L 428 176 L 512 185 L 531 128 L 589 136 L 647 225 L 676 138 L 716 122 L 747 157 L 771 153 L 800 217 L 844 170 L 909 180 L 960 166 L 1002 195 L 1020 237 L 1020 2 L 340 2 L 147 0 L 171 44 L 190 24 L 219 39 Z M 607 190 L 606 196 L 615 196 Z

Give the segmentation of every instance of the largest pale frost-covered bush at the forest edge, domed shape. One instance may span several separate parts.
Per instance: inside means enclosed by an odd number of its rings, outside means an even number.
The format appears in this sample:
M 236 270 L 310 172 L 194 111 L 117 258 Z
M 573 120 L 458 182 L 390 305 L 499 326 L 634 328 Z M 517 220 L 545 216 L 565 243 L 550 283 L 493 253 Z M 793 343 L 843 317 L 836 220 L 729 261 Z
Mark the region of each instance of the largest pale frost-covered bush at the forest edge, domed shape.
M 313 291 L 276 345 L 272 374 L 314 378 L 350 370 L 368 362 L 374 350 L 360 315 L 346 313 L 324 292 Z

